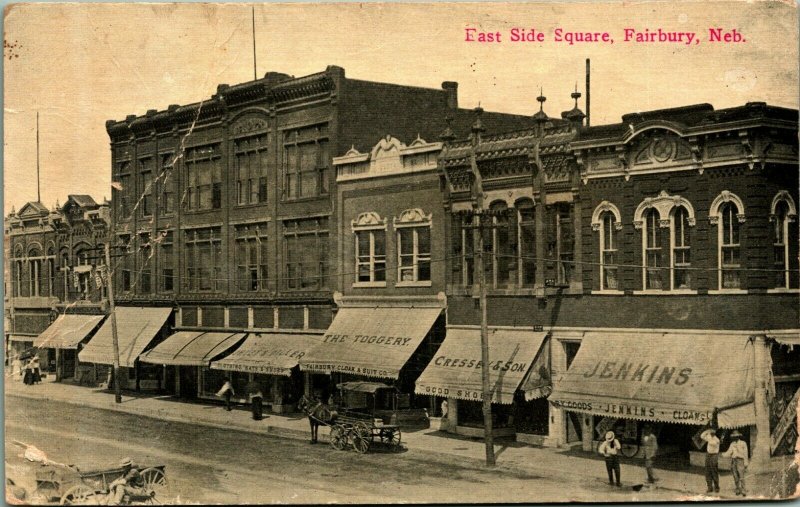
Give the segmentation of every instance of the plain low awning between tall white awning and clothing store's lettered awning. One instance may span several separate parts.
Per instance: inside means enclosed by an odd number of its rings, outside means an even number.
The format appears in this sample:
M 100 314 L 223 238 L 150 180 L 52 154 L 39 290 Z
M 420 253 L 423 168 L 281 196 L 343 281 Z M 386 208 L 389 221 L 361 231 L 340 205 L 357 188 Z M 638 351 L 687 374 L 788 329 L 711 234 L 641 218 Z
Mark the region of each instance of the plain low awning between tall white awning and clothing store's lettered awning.
M 178 331 L 139 356 L 139 361 L 173 366 L 208 366 L 212 359 L 244 337 L 244 333 Z

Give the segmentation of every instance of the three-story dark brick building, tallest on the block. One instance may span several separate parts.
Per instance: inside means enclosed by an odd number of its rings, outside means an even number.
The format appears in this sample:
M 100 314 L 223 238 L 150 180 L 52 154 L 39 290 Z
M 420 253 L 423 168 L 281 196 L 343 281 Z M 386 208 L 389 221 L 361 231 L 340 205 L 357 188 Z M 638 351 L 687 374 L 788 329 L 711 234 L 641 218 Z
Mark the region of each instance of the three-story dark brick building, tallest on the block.
M 129 252 L 115 270 L 119 304 L 176 306 L 175 329 L 196 333 L 321 334 L 337 281 L 332 157 L 368 150 L 385 132 L 435 137 L 446 116 L 468 125 L 456 83 L 376 83 L 331 66 L 300 78 L 269 72 L 202 102 L 108 121 L 111 234 Z M 486 115 L 497 129 L 522 121 Z M 256 371 L 191 368 L 169 371 L 181 392 L 200 395 L 225 375 L 243 392 Z M 296 398 L 303 382 L 292 379 L 261 379 L 266 399 Z

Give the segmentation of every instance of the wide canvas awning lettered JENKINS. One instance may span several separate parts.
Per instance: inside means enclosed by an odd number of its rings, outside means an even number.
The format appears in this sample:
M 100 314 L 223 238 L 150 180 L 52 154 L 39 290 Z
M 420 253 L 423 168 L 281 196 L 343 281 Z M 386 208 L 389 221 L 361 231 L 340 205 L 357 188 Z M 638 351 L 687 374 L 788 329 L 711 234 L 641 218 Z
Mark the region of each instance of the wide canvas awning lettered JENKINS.
M 752 342 L 746 336 L 587 333 L 554 406 L 613 418 L 708 424 L 755 424 Z

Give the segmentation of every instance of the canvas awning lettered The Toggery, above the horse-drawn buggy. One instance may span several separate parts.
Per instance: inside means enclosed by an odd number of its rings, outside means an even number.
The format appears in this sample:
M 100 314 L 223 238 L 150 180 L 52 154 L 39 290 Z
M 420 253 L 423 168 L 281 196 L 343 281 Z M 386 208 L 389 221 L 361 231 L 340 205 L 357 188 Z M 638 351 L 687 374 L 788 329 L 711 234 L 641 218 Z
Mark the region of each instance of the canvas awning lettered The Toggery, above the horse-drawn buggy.
M 300 369 L 396 379 L 441 312 L 441 307 L 342 308 L 300 360 Z

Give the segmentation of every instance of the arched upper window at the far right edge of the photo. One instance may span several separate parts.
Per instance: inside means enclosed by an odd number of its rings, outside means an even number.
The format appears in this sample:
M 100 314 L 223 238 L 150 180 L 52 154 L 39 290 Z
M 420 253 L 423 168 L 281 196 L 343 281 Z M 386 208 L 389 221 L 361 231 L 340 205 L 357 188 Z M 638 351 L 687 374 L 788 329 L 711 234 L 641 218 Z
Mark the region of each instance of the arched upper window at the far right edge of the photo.
M 796 219 L 797 208 L 794 199 L 786 190 L 778 192 L 772 200 L 770 213 L 774 273 L 772 286 L 776 289 L 793 289 L 798 286 L 797 255 L 795 253 L 797 228 L 790 226 Z

